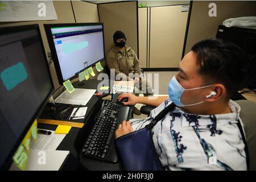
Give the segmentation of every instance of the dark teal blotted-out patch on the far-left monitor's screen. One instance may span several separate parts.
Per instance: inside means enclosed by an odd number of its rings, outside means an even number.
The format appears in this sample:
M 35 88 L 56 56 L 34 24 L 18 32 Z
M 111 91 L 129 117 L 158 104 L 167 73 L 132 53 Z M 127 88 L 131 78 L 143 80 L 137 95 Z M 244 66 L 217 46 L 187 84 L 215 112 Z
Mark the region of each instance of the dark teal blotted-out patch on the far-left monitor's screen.
M 27 71 L 23 63 L 17 63 L 9 68 L 4 69 L 0 77 L 3 85 L 7 90 L 15 88 L 20 82 L 27 79 Z

